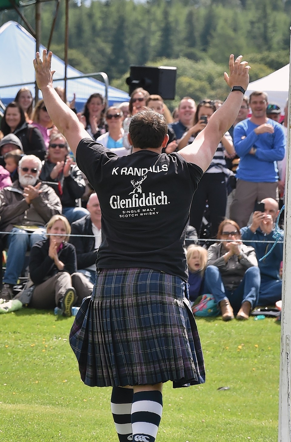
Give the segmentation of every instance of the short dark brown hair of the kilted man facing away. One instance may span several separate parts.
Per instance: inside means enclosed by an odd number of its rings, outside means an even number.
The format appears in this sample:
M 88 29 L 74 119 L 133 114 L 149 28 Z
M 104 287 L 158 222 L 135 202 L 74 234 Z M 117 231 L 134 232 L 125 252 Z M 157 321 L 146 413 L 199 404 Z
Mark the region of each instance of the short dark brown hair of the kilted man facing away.
M 168 133 L 168 125 L 163 115 L 147 108 L 132 117 L 129 133 L 133 147 L 159 148 Z

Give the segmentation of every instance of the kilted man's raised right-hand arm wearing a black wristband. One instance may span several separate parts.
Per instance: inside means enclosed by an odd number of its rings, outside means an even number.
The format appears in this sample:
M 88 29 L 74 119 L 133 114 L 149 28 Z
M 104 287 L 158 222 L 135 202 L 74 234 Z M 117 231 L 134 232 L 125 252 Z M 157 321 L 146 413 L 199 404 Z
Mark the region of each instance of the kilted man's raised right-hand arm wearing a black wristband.
M 197 135 L 193 143 L 179 151 L 186 161 L 197 164 L 203 171 L 208 168 L 220 140 L 234 123 L 241 108 L 244 91 L 249 84 L 250 69 L 248 62 L 241 59 L 242 55 L 234 61 L 234 56 L 230 55 L 230 75 L 224 72 L 224 79 L 230 88 L 237 86 L 243 91 L 231 91 L 222 106 L 211 115 L 207 126 Z

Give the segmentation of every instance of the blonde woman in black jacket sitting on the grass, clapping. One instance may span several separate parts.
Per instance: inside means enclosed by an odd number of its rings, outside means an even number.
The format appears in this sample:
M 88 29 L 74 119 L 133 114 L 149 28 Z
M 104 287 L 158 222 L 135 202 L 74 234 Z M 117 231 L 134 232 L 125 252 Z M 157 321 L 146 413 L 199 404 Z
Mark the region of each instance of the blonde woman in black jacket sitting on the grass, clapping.
M 29 270 L 35 285 L 30 307 L 60 307 L 63 316 L 72 316 L 72 306 L 81 305 L 92 292 L 93 284 L 77 273 L 76 249 L 67 240 L 71 233 L 68 220 L 54 215 L 47 224 L 48 239 L 33 245 Z

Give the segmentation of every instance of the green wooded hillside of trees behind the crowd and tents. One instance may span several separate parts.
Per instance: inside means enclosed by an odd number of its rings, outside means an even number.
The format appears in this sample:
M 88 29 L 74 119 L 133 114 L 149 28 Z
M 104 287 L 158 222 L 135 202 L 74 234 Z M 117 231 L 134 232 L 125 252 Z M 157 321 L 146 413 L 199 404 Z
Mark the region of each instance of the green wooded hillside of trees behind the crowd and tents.
M 54 2 L 42 3 L 42 44 L 47 45 Z M 34 23 L 34 6 L 23 8 Z M 2 13 L 3 24 L 19 21 Z M 223 72 L 230 53 L 252 65 L 250 80 L 289 62 L 291 0 L 71 0 L 69 64 L 82 72 L 104 71 L 128 91 L 130 65 L 177 66 L 176 99 L 190 95 L 224 99 Z M 21 23 L 24 27 L 25 25 Z M 65 2 L 51 50 L 64 58 Z

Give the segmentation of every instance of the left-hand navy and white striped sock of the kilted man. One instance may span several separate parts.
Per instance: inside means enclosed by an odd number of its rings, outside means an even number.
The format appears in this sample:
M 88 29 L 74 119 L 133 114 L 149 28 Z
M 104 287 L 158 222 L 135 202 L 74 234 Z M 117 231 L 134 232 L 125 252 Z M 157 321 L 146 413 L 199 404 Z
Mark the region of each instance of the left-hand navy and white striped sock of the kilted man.
M 119 442 L 132 441 L 130 413 L 133 396 L 133 389 L 112 388 L 110 405 Z

